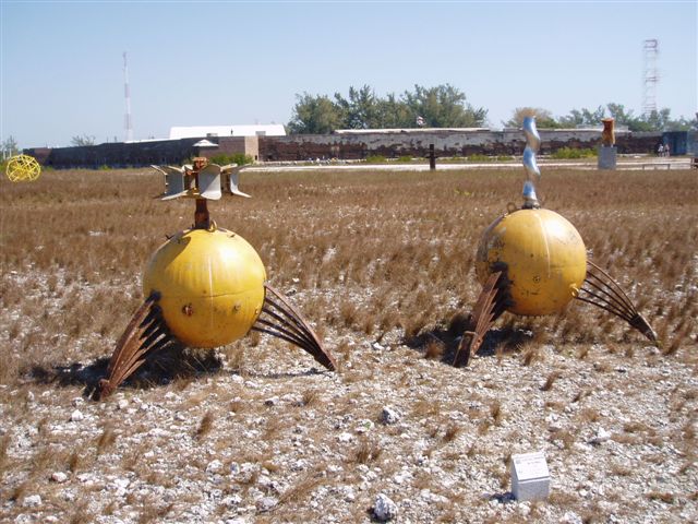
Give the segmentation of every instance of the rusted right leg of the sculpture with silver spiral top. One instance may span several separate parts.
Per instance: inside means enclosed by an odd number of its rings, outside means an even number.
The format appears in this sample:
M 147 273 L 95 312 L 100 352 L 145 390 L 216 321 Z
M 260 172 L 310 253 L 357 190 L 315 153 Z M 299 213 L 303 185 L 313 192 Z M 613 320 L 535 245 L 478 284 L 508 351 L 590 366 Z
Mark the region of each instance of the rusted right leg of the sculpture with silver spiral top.
M 618 283 L 590 260 L 587 261 L 587 278 L 577 299 L 615 314 L 642 333 L 648 340 L 658 342 L 657 333 L 645 317 L 638 312 Z

